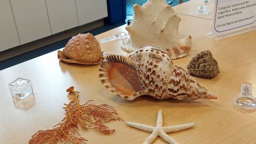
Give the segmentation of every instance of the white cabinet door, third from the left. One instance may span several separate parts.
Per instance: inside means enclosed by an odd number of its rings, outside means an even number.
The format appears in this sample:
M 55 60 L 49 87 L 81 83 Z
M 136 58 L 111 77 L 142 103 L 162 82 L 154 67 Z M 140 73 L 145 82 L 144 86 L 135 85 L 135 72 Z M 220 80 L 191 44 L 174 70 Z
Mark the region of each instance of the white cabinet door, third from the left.
M 75 0 L 46 0 L 52 34 L 78 26 Z

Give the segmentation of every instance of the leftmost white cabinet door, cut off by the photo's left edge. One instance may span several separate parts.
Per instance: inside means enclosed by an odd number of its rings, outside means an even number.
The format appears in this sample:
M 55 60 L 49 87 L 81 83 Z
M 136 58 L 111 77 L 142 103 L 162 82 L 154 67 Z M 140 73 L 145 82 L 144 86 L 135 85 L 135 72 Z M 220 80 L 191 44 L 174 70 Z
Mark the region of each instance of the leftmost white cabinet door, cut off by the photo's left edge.
M 20 45 L 17 29 L 13 19 L 9 0 L 1 0 L 0 4 L 0 51 Z

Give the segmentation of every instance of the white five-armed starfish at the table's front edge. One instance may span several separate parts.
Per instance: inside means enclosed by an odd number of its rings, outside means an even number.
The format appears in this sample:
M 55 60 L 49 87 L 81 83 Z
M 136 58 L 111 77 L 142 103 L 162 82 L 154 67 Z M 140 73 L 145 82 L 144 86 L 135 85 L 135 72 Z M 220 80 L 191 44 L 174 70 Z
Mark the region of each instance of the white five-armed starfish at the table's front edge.
M 143 144 L 150 144 L 153 142 L 158 136 L 161 137 L 167 143 L 178 144 L 173 138 L 169 137 L 166 133 L 170 132 L 178 132 L 182 130 L 189 129 L 193 127 L 196 123 L 188 123 L 188 124 L 181 124 L 181 125 L 174 125 L 174 126 L 165 126 L 163 127 L 163 115 L 162 110 L 160 109 L 157 114 L 156 126 L 150 126 L 145 124 L 138 124 L 132 122 L 126 122 L 127 125 L 134 127 L 136 129 L 151 132 L 149 137 L 143 142 Z

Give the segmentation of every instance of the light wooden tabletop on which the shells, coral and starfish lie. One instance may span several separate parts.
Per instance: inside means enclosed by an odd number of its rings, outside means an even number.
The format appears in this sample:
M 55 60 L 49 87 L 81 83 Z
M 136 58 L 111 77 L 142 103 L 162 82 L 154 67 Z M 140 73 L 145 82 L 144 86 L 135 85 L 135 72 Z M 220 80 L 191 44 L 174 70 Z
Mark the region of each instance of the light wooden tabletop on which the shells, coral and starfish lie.
M 233 106 L 241 83 L 256 86 L 256 30 L 215 41 L 205 36 L 212 20 L 179 15 L 180 37 L 191 35 L 192 48 L 185 58 L 173 60 L 186 68 L 198 52 L 209 49 L 217 59 L 220 74 L 213 79 L 196 78 L 218 96 L 217 100 L 156 100 L 147 96 L 134 101 L 123 100 L 103 87 L 98 77 L 98 67 L 60 62 L 57 51 L 20 63 L 0 71 L 0 143 L 27 143 L 38 130 L 52 129 L 65 116 L 63 103 L 68 103 L 66 89 L 75 86 L 81 92 L 81 103 L 94 100 L 95 104 L 115 107 L 124 121 L 155 125 L 159 109 L 163 111 L 164 126 L 195 122 L 196 126 L 169 135 L 179 143 L 256 143 L 256 113 Z M 125 26 L 96 36 L 108 37 Z M 119 41 L 101 44 L 104 52 L 125 54 Z M 17 77 L 31 79 L 34 97 L 12 99 L 8 83 Z M 256 89 L 256 88 L 254 88 Z M 253 94 L 255 90 L 253 89 Z M 80 131 L 87 143 L 142 143 L 150 135 L 125 122 L 108 124 L 116 132 L 110 135 L 93 130 Z M 154 143 L 165 143 L 157 138 Z

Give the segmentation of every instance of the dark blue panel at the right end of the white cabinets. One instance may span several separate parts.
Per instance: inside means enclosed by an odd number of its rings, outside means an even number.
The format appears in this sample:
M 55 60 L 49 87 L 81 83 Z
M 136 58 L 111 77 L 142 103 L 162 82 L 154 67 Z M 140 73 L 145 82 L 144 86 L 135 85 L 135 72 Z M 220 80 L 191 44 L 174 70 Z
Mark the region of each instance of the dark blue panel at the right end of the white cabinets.
M 114 25 L 125 21 L 126 19 L 126 1 L 125 0 L 107 0 L 108 18 L 107 23 Z

